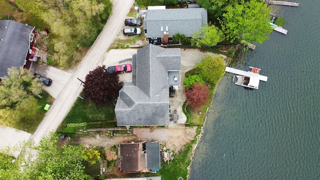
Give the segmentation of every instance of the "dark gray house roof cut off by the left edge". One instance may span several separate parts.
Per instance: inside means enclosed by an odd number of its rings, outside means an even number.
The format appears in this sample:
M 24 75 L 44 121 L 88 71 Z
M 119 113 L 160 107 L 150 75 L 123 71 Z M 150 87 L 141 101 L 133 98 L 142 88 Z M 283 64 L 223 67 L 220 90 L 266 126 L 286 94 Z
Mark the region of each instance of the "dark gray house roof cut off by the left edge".
M 23 66 L 33 29 L 13 20 L 0 20 L 0 78 L 7 75 L 7 68 Z

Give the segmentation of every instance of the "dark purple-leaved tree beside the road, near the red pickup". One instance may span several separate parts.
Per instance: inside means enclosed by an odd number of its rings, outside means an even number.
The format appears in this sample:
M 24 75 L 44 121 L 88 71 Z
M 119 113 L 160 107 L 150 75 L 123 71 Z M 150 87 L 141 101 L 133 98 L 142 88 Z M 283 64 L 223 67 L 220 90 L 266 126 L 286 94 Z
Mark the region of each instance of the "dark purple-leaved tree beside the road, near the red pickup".
M 85 76 L 83 98 L 92 100 L 96 105 L 114 102 L 122 88 L 118 73 L 109 73 L 105 65 L 98 66 Z

